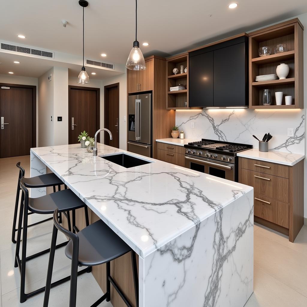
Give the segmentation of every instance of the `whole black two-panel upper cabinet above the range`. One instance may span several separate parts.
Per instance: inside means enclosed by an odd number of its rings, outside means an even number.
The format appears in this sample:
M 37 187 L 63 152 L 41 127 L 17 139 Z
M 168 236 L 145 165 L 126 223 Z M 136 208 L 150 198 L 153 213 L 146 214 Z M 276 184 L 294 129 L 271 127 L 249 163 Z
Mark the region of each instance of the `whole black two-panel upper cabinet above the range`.
M 247 60 L 245 36 L 190 52 L 189 106 L 247 106 Z

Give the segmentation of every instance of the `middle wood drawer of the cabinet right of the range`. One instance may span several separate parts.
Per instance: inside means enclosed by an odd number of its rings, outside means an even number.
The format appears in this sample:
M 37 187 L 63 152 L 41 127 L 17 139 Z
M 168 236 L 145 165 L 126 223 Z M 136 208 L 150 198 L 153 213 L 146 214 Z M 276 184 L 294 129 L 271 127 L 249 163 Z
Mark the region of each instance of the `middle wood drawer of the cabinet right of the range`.
M 241 183 L 254 187 L 254 192 L 289 203 L 289 179 L 241 169 Z

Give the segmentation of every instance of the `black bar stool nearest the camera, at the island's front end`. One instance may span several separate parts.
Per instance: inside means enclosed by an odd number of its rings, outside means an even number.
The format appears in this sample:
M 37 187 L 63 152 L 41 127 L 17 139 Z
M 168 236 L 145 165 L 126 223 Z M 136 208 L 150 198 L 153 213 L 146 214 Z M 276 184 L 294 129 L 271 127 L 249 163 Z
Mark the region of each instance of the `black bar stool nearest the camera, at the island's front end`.
M 131 303 L 128 301 L 124 293 L 122 293 L 119 286 L 116 284 L 110 274 L 110 261 L 119 258 L 128 252 L 131 252 L 134 291 L 136 306 L 138 307 L 138 269 L 135 252 L 102 220 L 99 220 L 85 227 L 77 234 L 74 234 L 60 225 L 58 221 L 58 212 L 59 211 L 56 209 L 53 213 L 54 226 L 52 231 L 51 250 L 49 254 L 46 291 L 43 307 L 48 307 L 49 302 L 52 268 L 58 230 L 63 232 L 68 238 L 71 239 L 65 248 L 65 255 L 72 260 L 69 307 L 76 307 L 78 266 L 97 266 L 102 263 L 106 263 L 107 266 L 107 292 L 97 301 L 95 301 L 91 307 L 97 307 L 104 300 L 110 301 L 111 284 L 122 297 L 125 304 L 128 307 L 132 307 Z

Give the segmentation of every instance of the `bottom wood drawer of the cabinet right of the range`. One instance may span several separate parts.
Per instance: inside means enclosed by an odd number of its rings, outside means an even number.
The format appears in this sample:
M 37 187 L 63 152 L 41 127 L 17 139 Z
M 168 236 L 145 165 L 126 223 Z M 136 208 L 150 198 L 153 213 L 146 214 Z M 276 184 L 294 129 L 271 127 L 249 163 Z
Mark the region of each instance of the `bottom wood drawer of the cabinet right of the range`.
M 289 205 L 280 201 L 254 194 L 254 215 L 289 228 Z

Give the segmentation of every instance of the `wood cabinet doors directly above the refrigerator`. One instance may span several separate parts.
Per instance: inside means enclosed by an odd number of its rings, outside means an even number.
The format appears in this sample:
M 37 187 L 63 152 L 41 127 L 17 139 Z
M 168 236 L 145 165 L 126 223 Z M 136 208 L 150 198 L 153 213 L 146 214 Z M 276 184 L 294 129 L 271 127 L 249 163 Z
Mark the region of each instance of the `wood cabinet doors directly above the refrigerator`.
M 153 59 L 146 60 L 145 63 L 145 70 L 127 70 L 129 94 L 153 90 Z

